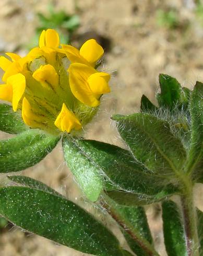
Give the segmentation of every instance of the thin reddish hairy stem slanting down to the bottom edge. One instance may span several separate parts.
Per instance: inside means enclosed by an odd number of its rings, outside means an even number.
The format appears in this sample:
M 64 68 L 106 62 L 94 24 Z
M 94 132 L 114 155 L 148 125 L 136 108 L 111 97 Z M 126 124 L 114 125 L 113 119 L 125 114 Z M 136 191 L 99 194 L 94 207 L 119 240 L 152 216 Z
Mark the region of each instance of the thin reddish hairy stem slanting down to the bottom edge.
M 111 217 L 120 225 L 132 238 L 133 240 L 146 252 L 148 256 L 159 256 L 158 252 L 150 245 L 150 243 L 143 239 L 139 234 L 136 234 L 132 228 L 124 223 L 124 220 L 116 213 L 116 210 L 107 203 L 103 203 L 102 207 L 111 215 Z

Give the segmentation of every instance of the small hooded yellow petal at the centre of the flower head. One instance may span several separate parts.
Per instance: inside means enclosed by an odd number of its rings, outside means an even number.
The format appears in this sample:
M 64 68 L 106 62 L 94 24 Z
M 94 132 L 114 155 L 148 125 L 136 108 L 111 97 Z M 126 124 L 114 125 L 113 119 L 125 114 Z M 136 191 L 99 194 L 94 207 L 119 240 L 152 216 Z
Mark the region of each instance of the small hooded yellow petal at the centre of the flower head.
M 58 74 L 56 73 L 55 68 L 50 64 L 40 66 L 32 76 L 38 82 L 47 82 L 54 86 L 58 85 Z

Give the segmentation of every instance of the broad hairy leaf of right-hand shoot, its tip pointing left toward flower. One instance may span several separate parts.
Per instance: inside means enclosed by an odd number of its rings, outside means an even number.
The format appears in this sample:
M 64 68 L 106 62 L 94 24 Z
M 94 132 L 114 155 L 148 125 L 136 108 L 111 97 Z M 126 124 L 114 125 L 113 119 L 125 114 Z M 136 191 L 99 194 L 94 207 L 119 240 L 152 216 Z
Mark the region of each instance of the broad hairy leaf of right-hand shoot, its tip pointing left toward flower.
M 186 152 L 180 139 L 171 133 L 167 121 L 146 113 L 114 115 L 113 120 L 135 158 L 152 174 L 166 180 L 176 178 L 182 171 Z

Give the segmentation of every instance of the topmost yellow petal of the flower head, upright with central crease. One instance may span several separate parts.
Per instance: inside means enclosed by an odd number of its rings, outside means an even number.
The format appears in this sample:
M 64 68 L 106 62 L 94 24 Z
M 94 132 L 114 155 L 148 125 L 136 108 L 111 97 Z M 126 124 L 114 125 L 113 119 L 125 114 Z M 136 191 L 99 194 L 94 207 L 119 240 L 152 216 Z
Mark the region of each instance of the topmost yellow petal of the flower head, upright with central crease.
M 58 48 L 59 36 L 54 29 L 43 30 L 40 35 L 39 46 L 47 46 L 50 48 Z

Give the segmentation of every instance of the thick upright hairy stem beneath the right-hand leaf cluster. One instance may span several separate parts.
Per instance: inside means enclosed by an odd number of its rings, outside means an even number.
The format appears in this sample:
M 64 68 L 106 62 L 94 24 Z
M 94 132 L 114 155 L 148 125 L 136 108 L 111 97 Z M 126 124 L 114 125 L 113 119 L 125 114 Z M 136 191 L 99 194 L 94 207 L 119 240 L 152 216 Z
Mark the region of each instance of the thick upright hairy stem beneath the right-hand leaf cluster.
M 197 216 L 193 199 L 193 184 L 187 176 L 184 182 L 184 194 L 181 196 L 187 256 L 199 256 L 199 238 L 197 234 Z

